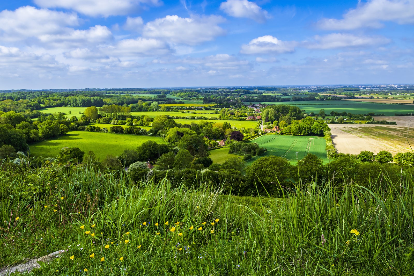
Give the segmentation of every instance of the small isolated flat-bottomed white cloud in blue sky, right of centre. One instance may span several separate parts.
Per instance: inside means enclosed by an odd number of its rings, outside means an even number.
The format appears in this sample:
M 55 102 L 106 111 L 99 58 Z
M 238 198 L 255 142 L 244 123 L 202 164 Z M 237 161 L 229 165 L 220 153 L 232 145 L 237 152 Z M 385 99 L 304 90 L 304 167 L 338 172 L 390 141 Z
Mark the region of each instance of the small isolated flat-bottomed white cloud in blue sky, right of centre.
M 245 54 L 268 54 L 268 53 L 291 53 L 295 51 L 296 41 L 281 41 L 276 37 L 267 35 L 253 39 L 249 44 L 241 46 L 240 53 Z

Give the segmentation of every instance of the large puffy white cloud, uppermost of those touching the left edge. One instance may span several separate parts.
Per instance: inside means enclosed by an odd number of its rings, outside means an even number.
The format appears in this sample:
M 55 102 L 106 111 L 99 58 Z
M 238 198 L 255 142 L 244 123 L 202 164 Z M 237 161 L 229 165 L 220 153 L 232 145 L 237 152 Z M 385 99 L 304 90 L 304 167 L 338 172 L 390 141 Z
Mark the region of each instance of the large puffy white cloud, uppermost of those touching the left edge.
M 79 18 L 75 13 L 24 6 L 14 11 L 0 12 L 0 37 L 3 41 L 19 41 L 29 37 L 60 34 L 69 29 L 67 26 L 78 24 Z

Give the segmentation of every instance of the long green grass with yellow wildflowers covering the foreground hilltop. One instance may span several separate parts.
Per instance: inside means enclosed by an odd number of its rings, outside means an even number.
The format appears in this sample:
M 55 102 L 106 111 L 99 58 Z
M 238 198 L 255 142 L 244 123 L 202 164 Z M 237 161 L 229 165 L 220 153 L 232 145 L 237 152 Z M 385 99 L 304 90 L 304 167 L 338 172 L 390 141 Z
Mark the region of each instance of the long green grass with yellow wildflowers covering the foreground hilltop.
M 274 199 L 208 182 L 130 184 L 94 167 L 1 171 L 0 267 L 65 250 L 31 274 L 407 275 L 414 183 L 402 179 L 313 183 Z

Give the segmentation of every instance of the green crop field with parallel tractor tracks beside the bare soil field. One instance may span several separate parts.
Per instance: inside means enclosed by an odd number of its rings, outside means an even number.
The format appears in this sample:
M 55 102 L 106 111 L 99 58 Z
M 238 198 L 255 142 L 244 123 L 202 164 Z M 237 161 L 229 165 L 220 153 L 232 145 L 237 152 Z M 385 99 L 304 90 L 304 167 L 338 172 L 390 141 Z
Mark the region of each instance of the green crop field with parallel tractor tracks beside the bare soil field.
M 298 152 L 298 160 L 301 160 L 308 153 L 312 153 L 327 162 L 325 150 L 326 142 L 322 137 L 267 134 L 262 135 L 255 140 L 251 140 L 250 142 L 257 143 L 262 148 L 267 148 L 267 152 L 260 157 L 277 155 L 296 163 L 296 152 Z M 248 164 L 251 164 L 257 159 L 258 157 L 249 160 Z

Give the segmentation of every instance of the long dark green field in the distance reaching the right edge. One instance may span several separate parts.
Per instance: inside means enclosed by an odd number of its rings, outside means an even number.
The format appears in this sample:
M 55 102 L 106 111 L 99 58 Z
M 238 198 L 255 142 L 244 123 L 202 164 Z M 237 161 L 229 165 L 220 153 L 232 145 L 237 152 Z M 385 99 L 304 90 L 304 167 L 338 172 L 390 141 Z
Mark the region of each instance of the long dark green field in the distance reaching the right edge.
M 257 104 L 258 102 L 253 102 Z M 249 104 L 246 103 L 245 104 Z M 394 116 L 397 114 L 407 114 L 413 109 L 413 106 L 406 104 L 377 104 L 366 102 L 349 102 L 349 101 L 295 101 L 295 102 L 262 102 L 262 104 L 287 104 L 297 106 L 306 113 L 318 113 L 320 109 L 325 109 L 325 113 L 329 114 L 331 111 L 351 112 L 352 114 L 368 114 L 374 112 L 375 114 L 385 114 L 385 116 Z

